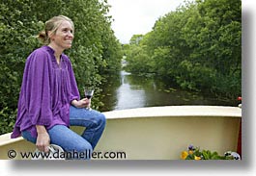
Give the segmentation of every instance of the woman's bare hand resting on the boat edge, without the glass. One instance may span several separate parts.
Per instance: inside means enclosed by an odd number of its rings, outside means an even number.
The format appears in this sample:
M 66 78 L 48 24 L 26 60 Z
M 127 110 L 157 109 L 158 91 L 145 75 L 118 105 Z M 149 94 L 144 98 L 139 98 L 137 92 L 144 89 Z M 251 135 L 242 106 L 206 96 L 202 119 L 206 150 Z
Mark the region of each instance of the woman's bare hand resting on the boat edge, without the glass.
M 40 151 L 47 153 L 49 151 L 48 147 L 50 144 L 49 135 L 44 126 L 37 125 L 36 128 L 37 128 L 37 132 L 38 132 L 36 146 Z

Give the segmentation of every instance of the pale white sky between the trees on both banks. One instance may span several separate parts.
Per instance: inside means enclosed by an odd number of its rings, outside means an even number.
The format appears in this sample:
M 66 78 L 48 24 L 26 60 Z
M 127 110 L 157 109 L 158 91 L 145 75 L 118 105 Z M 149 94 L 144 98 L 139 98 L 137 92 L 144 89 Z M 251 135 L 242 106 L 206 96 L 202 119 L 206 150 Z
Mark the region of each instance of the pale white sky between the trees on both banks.
M 156 20 L 175 11 L 184 0 L 108 0 L 112 29 L 121 43 L 128 43 L 133 35 L 152 31 Z

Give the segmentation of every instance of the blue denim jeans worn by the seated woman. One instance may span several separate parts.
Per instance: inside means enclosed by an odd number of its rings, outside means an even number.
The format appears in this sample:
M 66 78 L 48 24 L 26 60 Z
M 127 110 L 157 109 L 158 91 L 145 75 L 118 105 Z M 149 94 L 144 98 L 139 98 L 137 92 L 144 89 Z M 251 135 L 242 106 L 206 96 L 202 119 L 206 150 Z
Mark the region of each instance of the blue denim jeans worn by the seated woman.
M 67 152 L 92 154 L 105 127 L 104 114 L 95 110 L 88 111 L 71 106 L 70 124 L 71 126 L 86 127 L 86 129 L 79 136 L 65 125 L 55 125 L 48 130 L 50 143 L 61 146 Z M 29 131 L 23 131 L 21 134 L 23 138 L 36 143 L 37 138 L 32 137 Z

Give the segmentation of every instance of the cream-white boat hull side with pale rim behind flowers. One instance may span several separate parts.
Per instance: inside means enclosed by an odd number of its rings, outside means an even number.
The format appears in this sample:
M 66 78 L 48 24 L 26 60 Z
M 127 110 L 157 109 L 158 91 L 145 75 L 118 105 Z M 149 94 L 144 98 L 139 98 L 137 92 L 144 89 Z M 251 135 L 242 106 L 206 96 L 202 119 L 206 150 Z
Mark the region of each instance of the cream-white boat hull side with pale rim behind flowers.
M 242 120 L 242 109 L 216 106 L 153 107 L 104 114 L 106 128 L 95 151 L 123 152 L 115 160 L 180 160 L 189 144 L 221 155 L 237 151 Z M 83 128 L 72 130 L 80 134 Z M 34 151 L 35 145 L 23 138 L 11 139 L 10 134 L 0 136 L 0 159 L 9 159 L 11 149 L 16 153 Z M 17 155 L 14 159 L 21 158 Z

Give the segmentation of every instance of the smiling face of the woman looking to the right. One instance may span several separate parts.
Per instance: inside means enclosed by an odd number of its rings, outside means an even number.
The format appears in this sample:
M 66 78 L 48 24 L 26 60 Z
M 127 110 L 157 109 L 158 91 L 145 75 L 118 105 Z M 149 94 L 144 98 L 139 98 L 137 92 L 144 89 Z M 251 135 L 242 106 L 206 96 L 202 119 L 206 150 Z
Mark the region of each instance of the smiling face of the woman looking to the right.
M 51 36 L 51 43 L 54 43 L 60 49 L 71 48 L 73 39 L 73 29 L 69 21 L 63 21 L 56 31 L 56 34 Z

